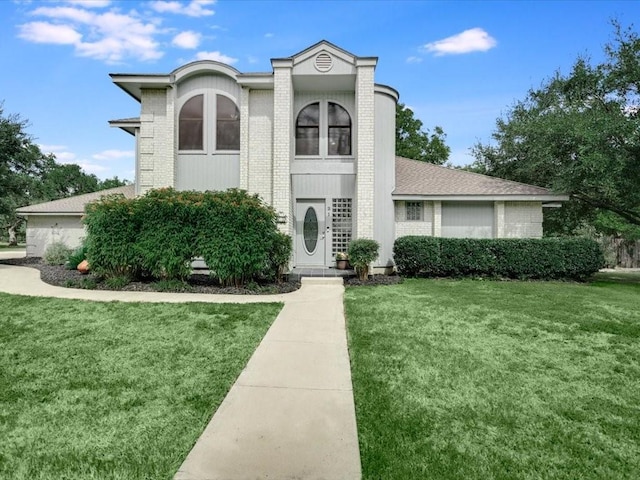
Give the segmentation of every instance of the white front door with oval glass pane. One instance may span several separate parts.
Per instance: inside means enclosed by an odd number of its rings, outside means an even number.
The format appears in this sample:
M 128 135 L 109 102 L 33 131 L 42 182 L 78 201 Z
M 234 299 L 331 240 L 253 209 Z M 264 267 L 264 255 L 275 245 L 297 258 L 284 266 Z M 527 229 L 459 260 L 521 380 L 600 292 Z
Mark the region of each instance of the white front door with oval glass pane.
M 296 264 L 325 266 L 327 215 L 324 200 L 296 203 Z

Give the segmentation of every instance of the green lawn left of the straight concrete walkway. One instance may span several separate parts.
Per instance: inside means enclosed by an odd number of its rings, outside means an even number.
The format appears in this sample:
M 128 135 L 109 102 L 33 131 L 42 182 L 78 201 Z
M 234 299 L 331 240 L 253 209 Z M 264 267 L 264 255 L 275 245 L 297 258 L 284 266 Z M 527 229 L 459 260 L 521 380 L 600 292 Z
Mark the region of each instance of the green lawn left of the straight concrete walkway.
M 0 294 L 0 478 L 171 479 L 281 308 Z

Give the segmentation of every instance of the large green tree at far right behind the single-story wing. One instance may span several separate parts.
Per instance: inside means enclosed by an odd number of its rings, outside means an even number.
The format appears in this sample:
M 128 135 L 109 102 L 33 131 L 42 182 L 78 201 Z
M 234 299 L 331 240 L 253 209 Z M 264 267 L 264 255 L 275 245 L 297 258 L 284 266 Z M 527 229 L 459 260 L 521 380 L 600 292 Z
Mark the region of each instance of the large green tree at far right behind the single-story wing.
M 604 62 L 578 58 L 497 120 L 493 144 L 473 149 L 475 171 L 570 194 L 557 230 L 572 219 L 571 229 L 640 225 L 640 39 L 614 29 Z

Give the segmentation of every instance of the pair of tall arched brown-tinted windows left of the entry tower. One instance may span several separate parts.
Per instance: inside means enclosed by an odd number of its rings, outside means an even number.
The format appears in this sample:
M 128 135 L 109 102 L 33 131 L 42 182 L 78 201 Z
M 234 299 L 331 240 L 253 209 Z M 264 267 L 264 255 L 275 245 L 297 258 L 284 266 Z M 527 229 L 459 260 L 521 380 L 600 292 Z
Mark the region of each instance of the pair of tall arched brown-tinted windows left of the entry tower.
M 207 94 L 187 100 L 178 115 L 178 149 L 240 150 L 240 111 L 233 100 Z

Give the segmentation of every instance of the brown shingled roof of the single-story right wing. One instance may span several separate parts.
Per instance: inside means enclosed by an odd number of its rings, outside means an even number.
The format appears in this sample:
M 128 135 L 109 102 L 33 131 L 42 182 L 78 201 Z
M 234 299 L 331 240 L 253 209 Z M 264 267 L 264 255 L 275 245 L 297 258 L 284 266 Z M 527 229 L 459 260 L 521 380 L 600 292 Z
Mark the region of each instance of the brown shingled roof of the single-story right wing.
M 531 200 L 563 201 L 566 195 L 534 185 L 489 177 L 479 173 L 441 167 L 396 157 L 396 188 L 393 197 L 431 200 Z

